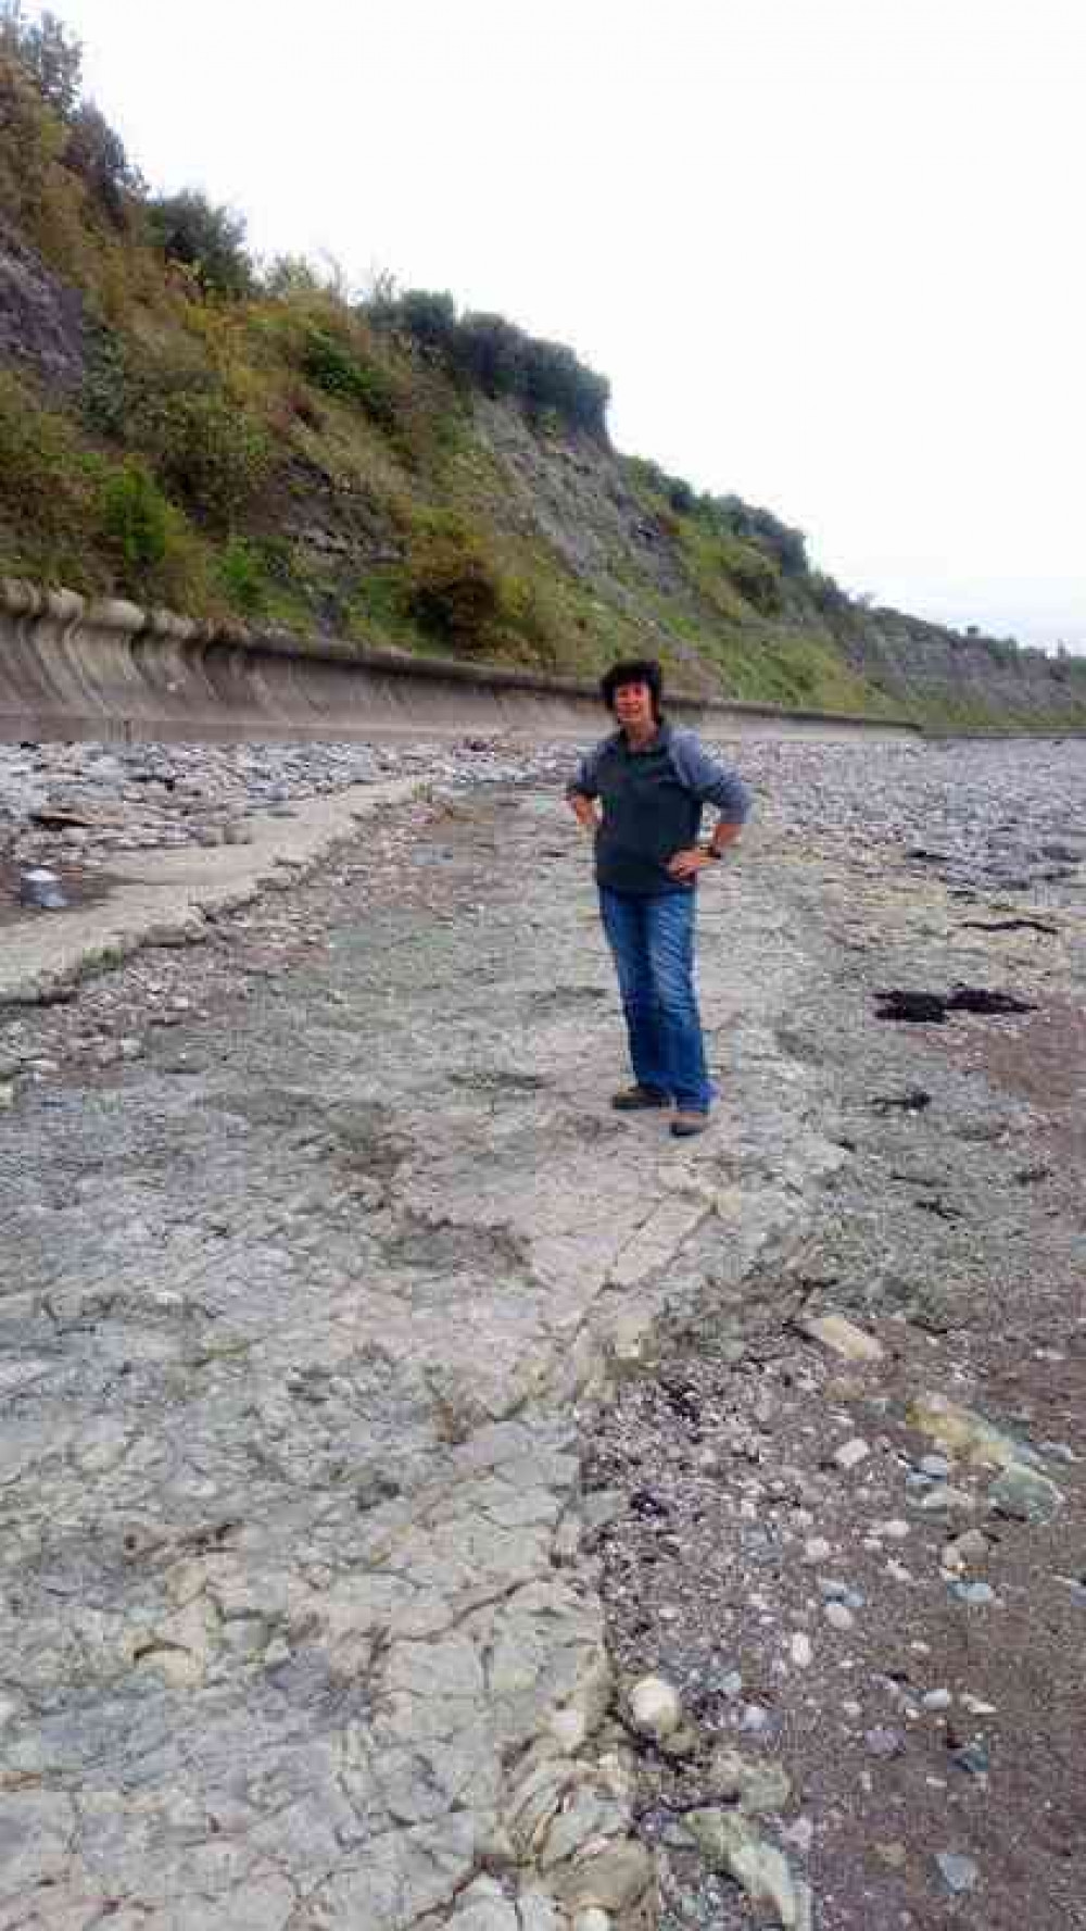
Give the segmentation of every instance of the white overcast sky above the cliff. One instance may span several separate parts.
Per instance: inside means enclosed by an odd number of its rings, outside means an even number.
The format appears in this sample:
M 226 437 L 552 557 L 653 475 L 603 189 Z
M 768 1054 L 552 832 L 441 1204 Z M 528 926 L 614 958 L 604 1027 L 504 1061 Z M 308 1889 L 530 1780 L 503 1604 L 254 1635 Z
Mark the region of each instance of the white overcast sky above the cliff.
M 569 342 L 851 591 L 1086 651 L 1082 0 L 52 4 L 154 187 Z

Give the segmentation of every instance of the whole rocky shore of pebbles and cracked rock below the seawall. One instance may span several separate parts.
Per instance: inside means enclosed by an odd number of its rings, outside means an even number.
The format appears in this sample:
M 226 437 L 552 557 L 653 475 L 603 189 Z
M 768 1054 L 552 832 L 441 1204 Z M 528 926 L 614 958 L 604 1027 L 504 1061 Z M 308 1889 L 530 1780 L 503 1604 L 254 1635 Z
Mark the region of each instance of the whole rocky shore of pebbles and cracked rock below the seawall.
M 424 788 L 0 1010 L 0 1923 L 1086 1923 L 1086 749 L 733 757 L 679 1157 L 567 749 L 0 751 L 0 946 Z

